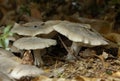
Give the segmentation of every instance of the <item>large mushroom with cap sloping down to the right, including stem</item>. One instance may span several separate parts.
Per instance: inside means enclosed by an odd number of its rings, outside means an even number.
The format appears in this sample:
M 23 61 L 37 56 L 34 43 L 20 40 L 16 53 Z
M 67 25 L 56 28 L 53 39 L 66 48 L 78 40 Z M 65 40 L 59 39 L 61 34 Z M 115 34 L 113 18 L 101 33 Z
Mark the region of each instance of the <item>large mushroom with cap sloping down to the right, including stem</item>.
M 68 53 L 67 60 L 75 59 L 81 46 L 93 47 L 107 45 L 108 42 L 89 24 L 80 24 L 64 21 L 53 27 L 57 32 L 73 41 L 71 45 L 72 54 Z M 74 55 L 73 55 L 74 54 Z

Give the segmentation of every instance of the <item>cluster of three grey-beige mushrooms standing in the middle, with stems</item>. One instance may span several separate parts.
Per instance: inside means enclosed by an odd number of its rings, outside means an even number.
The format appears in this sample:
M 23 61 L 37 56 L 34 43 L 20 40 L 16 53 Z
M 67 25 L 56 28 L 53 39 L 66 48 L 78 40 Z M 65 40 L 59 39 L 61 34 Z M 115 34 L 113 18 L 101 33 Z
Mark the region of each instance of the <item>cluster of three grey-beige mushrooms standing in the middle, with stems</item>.
M 56 31 L 73 41 L 71 45 L 72 52 L 68 53 L 67 60 L 75 59 L 81 46 L 108 45 L 107 40 L 91 28 L 89 24 L 72 23 L 69 21 L 50 20 L 46 22 L 29 22 L 26 24 L 15 23 L 11 31 L 19 35 L 24 35 L 23 38 L 15 41 L 13 45 L 19 49 L 34 50 L 35 64 L 38 66 L 43 64 L 40 49 L 56 45 L 56 40 L 50 39 L 51 37 L 40 38 L 37 35 L 49 35 L 52 31 Z

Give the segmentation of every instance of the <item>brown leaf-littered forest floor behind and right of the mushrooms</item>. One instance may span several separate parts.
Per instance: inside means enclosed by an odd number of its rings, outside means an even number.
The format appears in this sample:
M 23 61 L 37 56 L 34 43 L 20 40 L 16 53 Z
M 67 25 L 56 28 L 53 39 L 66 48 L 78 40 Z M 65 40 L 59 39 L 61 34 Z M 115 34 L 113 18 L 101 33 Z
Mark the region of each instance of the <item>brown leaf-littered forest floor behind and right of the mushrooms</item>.
M 47 48 L 47 53 L 42 56 L 44 61 L 42 69 L 45 71 L 43 75 L 46 76 L 45 78 L 65 78 L 77 81 L 120 80 L 120 16 L 118 15 L 120 9 L 116 8 L 117 5 L 112 4 L 112 0 L 108 2 L 96 0 L 95 3 L 93 0 L 36 1 L 0 0 L 0 26 L 13 25 L 15 22 L 48 20 L 87 23 L 115 45 L 82 47 L 76 59 L 68 62 L 65 60 L 67 50 L 58 37 L 55 37 L 58 45 Z M 2 31 L 1 29 L 0 33 Z M 66 46 L 71 45 L 72 41 L 62 35 L 61 38 Z M 98 80 L 99 78 L 102 79 Z M 20 79 L 19 81 L 24 80 Z M 25 81 L 27 80 L 25 79 Z M 29 81 L 47 80 L 35 77 Z

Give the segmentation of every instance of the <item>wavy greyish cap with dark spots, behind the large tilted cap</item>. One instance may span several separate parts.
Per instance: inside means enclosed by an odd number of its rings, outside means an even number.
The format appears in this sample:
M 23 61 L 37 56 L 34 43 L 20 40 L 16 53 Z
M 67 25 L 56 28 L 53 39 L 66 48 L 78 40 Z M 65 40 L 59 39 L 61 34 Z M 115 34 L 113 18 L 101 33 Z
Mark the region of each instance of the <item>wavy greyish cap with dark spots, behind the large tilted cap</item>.
M 53 25 L 59 23 L 60 21 L 47 21 L 47 22 L 29 22 L 26 24 L 17 24 L 15 23 L 14 27 L 11 29 L 11 32 L 17 33 L 19 35 L 26 36 L 36 36 L 38 34 L 48 34 L 52 32 Z

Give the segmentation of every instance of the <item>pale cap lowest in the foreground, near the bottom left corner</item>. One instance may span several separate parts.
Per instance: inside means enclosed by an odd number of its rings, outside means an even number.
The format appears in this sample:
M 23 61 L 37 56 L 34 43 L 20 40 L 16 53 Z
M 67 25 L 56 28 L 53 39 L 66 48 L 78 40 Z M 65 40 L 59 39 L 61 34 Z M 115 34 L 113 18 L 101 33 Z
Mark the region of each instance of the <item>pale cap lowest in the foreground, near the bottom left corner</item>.
M 20 79 L 23 76 L 40 76 L 41 74 L 44 74 L 44 71 L 41 68 L 37 68 L 32 65 L 18 65 L 16 66 L 12 72 L 10 73 L 10 76 L 16 79 Z

